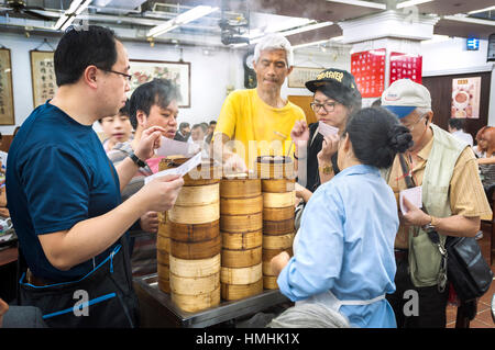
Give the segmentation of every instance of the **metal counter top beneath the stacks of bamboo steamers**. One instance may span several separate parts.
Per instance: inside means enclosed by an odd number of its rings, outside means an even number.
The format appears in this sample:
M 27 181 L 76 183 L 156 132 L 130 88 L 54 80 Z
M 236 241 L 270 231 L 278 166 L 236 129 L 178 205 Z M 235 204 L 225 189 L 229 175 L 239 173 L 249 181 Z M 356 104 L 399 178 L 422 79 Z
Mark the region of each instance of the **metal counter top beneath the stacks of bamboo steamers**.
M 158 289 L 157 279 L 157 274 L 153 273 L 133 280 L 141 304 L 141 327 L 202 328 L 290 302 L 278 290 L 264 290 L 251 297 L 221 301 L 218 306 L 187 313 L 175 305 L 169 294 Z

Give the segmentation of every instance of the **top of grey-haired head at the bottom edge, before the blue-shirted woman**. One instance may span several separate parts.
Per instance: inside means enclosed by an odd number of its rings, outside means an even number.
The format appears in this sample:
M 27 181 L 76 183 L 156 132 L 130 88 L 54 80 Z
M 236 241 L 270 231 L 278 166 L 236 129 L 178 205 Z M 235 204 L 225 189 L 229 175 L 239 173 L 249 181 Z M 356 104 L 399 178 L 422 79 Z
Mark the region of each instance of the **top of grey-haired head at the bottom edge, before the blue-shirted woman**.
M 323 304 L 302 303 L 287 308 L 267 328 L 351 328 L 342 314 Z

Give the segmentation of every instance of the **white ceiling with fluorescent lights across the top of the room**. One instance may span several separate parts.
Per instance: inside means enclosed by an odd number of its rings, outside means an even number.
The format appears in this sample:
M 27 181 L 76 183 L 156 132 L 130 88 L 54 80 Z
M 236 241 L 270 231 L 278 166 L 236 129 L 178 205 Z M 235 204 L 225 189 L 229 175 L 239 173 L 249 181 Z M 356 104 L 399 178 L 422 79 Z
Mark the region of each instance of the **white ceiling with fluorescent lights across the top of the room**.
M 293 45 L 329 41 L 342 35 L 339 22 L 380 13 L 382 11 L 415 11 L 439 18 L 435 34 L 448 36 L 477 36 L 486 38 L 495 33 L 493 0 L 433 0 L 400 8 L 405 0 L 92 0 L 77 21 L 112 27 L 119 37 L 133 41 L 173 45 L 217 47 L 242 46 L 256 32 L 289 30 L 320 22 L 330 25 L 299 34 L 286 35 Z M 9 4 L 10 2 L 10 4 Z M 19 11 L 12 2 L 25 4 Z M 420 2 L 420 1 L 419 1 Z M 0 33 L 30 32 L 59 35 L 53 30 L 72 0 L 0 0 Z M 196 5 L 218 7 L 219 10 L 199 20 L 151 38 L 148 31 Z M 493 8 L 477 13 L 482 9 Z M 308 19 L 307 23 L 295 22 Z M 81 22 L 85 23 L 85 22 Z M 287 34 L 287 32 L 286 32 Z M 240 44 L 241 43 L 241 44 Z

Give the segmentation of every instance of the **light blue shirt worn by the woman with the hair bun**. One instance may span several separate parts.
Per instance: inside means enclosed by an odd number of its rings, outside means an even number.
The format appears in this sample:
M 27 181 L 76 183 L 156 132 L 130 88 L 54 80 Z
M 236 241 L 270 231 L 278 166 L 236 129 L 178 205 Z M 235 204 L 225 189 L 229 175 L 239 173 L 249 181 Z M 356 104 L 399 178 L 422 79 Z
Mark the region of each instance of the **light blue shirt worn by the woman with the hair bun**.
M 280 292 L 294 301 L 330 290 L 340 301 L 364 301 L 395 291 L 397 203 L 371 166 L 353 166 L 320 185 L 306 205 L 295 256 L 282 270 Z M 353 327 L 396 327 L 386 300 L 343 305 Z

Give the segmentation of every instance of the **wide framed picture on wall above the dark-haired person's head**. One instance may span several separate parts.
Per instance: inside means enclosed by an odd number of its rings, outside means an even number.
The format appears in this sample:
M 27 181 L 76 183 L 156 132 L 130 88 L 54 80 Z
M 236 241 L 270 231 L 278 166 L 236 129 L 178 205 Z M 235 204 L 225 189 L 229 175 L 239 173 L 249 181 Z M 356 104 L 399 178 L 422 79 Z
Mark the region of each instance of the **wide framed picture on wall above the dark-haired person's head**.
M 190 108 L 190 63 L 130 59 L 131 91 L 155 78 L 172 80 L 180 91 L 179 108 Z

